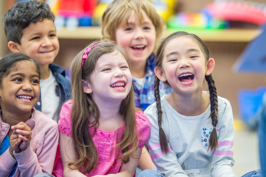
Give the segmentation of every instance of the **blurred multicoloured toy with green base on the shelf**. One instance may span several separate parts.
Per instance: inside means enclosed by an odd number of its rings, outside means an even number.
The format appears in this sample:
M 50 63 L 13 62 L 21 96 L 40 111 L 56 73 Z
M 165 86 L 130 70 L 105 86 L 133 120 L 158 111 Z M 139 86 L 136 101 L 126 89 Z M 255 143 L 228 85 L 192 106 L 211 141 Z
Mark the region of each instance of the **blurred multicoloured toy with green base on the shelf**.
M 217 19 L 205 13 L 178 13 L 168 19 L 167 27 L 174 29 L 221 29 L 227 28 L 228 23 L 222 19 Z

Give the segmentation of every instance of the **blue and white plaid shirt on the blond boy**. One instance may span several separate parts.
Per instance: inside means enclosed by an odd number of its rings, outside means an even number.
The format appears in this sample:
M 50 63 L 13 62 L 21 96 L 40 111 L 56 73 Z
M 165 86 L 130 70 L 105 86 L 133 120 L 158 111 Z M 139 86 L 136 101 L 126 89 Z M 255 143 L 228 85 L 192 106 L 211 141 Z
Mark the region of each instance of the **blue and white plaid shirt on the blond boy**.
M 136 79 L 132 78 L 133 88 L 134 88 L 134 97 L 135 97 L 135 105 L 142 110 L 145 110 L 148 106 L 155 102 L 154 96 L 154 66 L 155 66 L 155 53 L 152 53 L 150 57 L 147 59 L 146 66 L 146 76 L 145 83 L 142 85 L 141 89 L 136 87 Z M 160 97 L 165 94 L 169 94 L 172 92 L 172 89 L 168 86 L 164 85 L 163 82 L 160 81 Z

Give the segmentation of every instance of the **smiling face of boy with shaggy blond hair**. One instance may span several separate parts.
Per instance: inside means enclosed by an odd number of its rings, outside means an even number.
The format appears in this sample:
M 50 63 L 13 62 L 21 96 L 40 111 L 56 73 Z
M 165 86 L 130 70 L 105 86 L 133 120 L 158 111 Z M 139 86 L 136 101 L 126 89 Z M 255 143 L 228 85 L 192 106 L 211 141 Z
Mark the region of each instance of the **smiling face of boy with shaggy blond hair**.
M 142 24 L 135 12 L 128 18 L 128 25 L 121 24 L 116 30 L 116 42 L 123 47 L 130 63 L 146 62 L 156 42 L 156 31 L 148 15 L 142 10 Z

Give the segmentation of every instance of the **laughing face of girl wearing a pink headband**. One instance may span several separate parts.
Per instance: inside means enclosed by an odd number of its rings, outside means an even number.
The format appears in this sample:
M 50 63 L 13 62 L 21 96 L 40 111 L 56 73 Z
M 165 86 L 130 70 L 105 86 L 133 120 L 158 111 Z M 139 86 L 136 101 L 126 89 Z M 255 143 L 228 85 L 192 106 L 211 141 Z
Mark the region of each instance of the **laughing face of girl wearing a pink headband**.
M 89 92 L 94 101 L 122 101 L 131 89 L 132 76 L 124 56 L 114 51 L 98 58 L 90 81 Z

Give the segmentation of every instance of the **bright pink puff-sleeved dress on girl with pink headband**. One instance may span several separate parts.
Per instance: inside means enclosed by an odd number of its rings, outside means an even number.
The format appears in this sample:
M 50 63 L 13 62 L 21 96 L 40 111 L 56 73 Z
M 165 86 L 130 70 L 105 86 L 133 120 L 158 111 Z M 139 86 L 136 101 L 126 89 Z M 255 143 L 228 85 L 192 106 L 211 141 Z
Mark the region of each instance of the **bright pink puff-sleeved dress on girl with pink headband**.
M 63 104 L 60 113 L 60 119 L 58 121 L 59 130 L 62 133 L 65 133 L 67 136 L 72 136 L 72 121 L 70 117 L 72 104 L 72 100 L 69 100 L 68 102 Z M 142 111 L 136 111 L 136 122 L 137 130 L 139 132 L 140 137 L 138 147 L 144 147 L 144 143 L 148 140 L 150 136 L 150 123 Z M 121 167 L 120 164 L 122 164 L 122 161 L 117 160 L 118 149 L 112 152 L 112 148 L 117 143 L 119 143 L 124 130 L 124 122 L 122 124 L 122 127 L 114 131 L 104 131 L 96 129 L 96 133 L 94 136 L 92 136 L 92 140 L 98 151 L 98 166 L 90 173 L 85 174 L 86 176 L 116 174 L 119 172 Z M 90 128 L 89 131 L 91 134 L 93 134 L 94 128 Z M 122 152 L 119 155 L 121 154 Z M 61 156 L 59 156 L 59 158 L 55 162 L 53 168 L 53 175 L 57 177 L 63 177 L 63 166 Z

